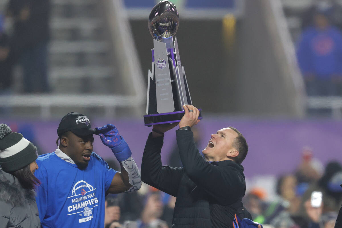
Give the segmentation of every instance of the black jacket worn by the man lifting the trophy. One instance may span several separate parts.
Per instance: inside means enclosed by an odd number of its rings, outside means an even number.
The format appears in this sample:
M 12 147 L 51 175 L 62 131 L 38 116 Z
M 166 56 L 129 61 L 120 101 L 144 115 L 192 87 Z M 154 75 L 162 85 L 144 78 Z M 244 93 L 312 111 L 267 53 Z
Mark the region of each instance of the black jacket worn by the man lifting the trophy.
M 163 137 L 150 134 L 142 160 L 143 182 L 177 197 L 172 227 L 232 227 L 246 191 L 244 168 L 231 160 L 209 163 L 198 152 L 191 131 L 177 130 L 176 135 L 184 167 L 162 166 Z

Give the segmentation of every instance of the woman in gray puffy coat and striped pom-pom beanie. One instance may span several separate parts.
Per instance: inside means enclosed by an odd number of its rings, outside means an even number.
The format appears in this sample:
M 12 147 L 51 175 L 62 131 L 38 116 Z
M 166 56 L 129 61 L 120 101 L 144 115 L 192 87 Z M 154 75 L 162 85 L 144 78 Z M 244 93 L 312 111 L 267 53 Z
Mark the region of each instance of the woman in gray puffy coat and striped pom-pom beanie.
M 40 227 L 34 176 L 37 148 L 22 134 L 0 124 L 0 228 Z

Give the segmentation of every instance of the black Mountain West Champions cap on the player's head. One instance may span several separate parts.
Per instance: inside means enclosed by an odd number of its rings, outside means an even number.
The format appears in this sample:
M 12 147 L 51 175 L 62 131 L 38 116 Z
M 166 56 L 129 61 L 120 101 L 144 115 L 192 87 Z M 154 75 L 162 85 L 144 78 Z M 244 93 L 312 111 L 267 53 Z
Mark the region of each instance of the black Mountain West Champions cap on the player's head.
M 57 128 L 57 135 L 61 136 L 68 131 L 80 136 L 86 136 L 96 132 L 95 129 L 91 128 L 88 117 L 79 112 L 69 112 L 62 118 Z

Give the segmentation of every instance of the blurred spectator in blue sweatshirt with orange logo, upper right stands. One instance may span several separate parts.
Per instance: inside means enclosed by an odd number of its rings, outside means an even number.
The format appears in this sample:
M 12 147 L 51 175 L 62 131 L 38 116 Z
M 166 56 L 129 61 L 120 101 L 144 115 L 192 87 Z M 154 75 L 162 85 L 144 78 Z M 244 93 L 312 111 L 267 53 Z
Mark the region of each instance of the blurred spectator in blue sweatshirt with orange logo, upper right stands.
M 328 11 L 318 11 L 314 25 L 303 31 L 298 43 L 298 63 L 309 96 L 340 95 L 342 34 L 330 25 Z

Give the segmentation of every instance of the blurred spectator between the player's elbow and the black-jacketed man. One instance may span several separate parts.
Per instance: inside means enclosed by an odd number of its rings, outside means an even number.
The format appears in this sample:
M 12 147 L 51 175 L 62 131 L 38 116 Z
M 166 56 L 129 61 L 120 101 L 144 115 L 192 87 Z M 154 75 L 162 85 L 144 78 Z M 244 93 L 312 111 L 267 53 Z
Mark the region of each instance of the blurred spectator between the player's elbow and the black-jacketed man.
M 165 221 L 161 220 L 163 203 L 159 190 L 151 192 L 146 198 L 145 207 L 137 220 L 137 228 L 168 228 Z

